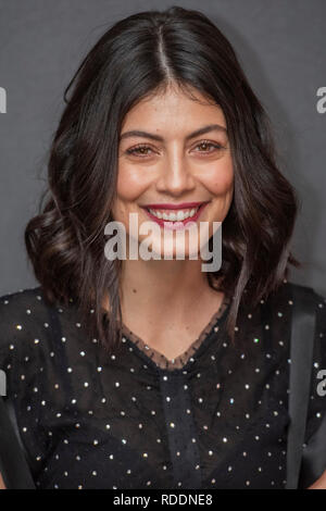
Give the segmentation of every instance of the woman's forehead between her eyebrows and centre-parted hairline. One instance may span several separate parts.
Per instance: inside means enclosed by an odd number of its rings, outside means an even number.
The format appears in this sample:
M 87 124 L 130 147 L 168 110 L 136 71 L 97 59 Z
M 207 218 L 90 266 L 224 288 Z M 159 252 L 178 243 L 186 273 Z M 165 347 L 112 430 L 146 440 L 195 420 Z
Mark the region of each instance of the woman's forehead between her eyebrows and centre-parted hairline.
M 226 127 L 223 110 L 197 89 L 189 94 L 176 87 L 153 94 L 140 100 L 126 114 L 122 133 L 128 129 L 148 129 L 154 133 L 191 132 L 204 124 L 217 123 Z

